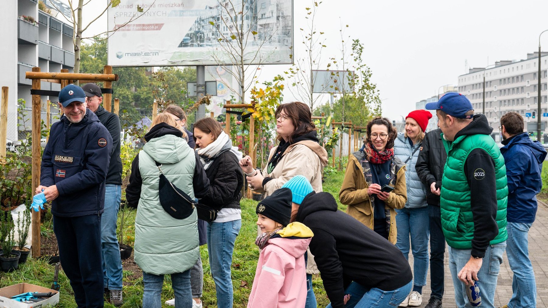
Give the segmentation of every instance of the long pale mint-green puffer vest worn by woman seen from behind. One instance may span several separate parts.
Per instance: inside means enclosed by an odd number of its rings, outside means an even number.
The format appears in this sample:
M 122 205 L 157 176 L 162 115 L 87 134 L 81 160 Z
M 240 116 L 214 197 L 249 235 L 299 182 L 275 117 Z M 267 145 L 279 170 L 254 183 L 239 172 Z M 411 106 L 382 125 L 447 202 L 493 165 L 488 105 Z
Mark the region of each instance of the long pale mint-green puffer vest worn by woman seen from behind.
M 158 168 L 173 185 L 194 197 L 194 151 L 175 135 L 151 139 L 139 152 L 141 198 L 135 217 L 135 263 L 141 270 L 165 275 L 190 269 L 199 258 L 198 215 L 175 219 L 162 208 L 158 194 Z

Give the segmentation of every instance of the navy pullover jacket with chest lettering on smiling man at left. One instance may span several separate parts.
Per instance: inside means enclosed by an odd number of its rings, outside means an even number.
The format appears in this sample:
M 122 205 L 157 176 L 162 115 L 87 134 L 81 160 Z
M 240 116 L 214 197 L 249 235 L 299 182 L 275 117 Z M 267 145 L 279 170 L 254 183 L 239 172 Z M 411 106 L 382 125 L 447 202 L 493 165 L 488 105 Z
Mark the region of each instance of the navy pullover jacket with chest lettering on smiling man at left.
M 52 214 L 76 217 L 101 214 L 112 137 L 89 109 L 78 124 L 62 116 L 52 125 L 42 155 L 40 185 L 56 185 Z

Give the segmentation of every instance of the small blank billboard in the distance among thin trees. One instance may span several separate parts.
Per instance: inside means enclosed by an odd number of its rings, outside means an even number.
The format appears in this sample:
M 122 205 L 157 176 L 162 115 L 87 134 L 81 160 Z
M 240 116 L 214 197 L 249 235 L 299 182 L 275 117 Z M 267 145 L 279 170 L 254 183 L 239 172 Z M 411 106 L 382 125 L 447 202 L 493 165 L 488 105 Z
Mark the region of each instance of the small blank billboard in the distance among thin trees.
M 353 71 L 312 70 L 314 93 L 351 93 L 349 77 Z

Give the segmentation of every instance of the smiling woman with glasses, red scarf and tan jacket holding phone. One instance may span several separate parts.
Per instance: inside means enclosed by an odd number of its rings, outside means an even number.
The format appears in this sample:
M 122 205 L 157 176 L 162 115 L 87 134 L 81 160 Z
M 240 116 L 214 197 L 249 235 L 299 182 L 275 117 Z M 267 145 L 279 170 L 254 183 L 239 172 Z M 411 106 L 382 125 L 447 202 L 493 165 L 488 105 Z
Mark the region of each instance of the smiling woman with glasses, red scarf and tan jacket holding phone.
M 405 164 L 394 156 L 396 128 L 388 118 L 367 123 L 362 149 L 352 153 L 346 166 L 340 202 L 346 213 L 396 244 L 396 212 L 407 202 Z

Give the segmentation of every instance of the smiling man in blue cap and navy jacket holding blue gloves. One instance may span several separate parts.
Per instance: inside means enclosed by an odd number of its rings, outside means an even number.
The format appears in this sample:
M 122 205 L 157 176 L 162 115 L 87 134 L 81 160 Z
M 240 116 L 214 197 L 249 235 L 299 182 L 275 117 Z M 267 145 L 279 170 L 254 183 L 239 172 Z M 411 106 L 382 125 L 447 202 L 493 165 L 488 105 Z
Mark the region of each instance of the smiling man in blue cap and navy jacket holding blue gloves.
M 82 88 L 62 88 L 59 105 L 64 115 L 50 129 L 36 193 L 52 202 L 53 231 L 77 306 L 103 307 L 101 214 L 112 138 L 86 108 Z

